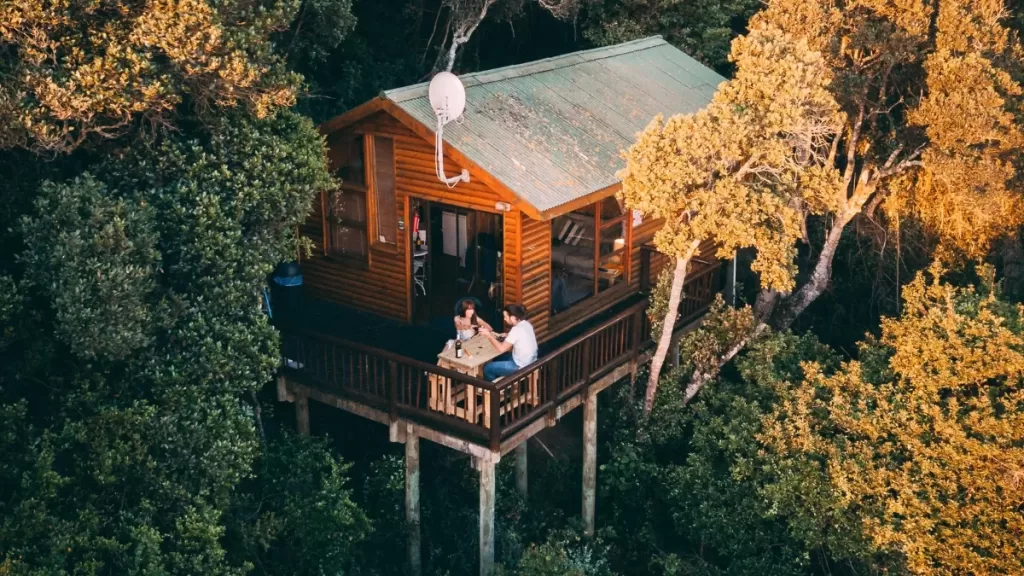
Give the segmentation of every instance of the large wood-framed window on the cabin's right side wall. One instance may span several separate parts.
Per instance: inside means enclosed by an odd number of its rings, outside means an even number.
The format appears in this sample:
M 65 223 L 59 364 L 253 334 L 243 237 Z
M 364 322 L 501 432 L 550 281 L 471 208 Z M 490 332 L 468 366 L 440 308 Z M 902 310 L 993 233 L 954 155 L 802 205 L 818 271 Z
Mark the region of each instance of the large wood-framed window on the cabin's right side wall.
M 626 282 L 628 227 L 614 198 L 552 221 L 553 314 Z

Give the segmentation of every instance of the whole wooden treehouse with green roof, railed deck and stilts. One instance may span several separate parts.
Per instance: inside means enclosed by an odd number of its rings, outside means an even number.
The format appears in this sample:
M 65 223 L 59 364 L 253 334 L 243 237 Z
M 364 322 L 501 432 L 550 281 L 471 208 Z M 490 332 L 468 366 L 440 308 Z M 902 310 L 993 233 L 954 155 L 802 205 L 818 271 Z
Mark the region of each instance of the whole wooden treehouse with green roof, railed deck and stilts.
M 648 246 L 662 222 L 616 199 L 622 152 L 655 115 L 703 108 L 723 79 L 655 37 L 461 80 L 465 114 L 443 127 L 442 170 L 465 170 L 468 181 L 438 177 L 427 84 L 385 91 L 322 126 L 341 184 L 301 228 L 312 245 L 301 261 L 306 301 L 282 326 L 279 395 L 296 403 L 300 429 L 313 399 L 406 443 L 413 572 L 420 438 L 469 454 L 480 472 L 485 573 L 495 463 L 513 452 L 524 491 L 525 441 L 584 406 L 593 530 L 597 394 L 646 359 L 646 291 L 667 260 Z M 727 276 L 703 248 L 680 331 Z M 502 307 L 523 304 L 539 360 L 490 382 L 479 366 L 439 359 L 467 296 L 499 329 Z

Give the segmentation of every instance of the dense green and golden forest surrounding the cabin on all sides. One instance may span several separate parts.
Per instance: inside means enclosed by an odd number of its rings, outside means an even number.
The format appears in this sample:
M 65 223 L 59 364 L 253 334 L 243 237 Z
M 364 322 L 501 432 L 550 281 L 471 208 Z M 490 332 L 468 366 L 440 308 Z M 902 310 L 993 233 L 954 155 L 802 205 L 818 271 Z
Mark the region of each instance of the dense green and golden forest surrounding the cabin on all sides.
M 595 538 L 575 458 L 526 500 L 503 461 L 502 570 L 1024 572 L 1022 28 L 1019 0 L 4 2 L 0 576 L 403 574 L 394 448 L 274 409 L 259 298 L 337 183 L 315 125 L 654 34 L 729 80 L 625 155 L 677 263 L 652 320 L 708 238 L 750 305 L 608 393 Z M 424 455 L 425 572 L 474 573 L 476 481 Z

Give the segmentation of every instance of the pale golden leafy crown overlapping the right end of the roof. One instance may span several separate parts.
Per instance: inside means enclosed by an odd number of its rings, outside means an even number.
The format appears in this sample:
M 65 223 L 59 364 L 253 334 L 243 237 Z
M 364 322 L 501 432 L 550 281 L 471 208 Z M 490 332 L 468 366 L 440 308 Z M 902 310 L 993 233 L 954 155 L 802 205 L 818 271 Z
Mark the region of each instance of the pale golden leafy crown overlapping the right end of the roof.
M 762 26 L 733 45 L 733 80 L 705 110 L 656 118 L 626 155 L 623 197 L 667 223 L 658 250 L 677 256 L 693 240 L 717 239 L 726 257 L 757 246 L 766 285 L 793 286 L 805 205 L 835 205 L 826 161 L 842 115 L 829 74 L 806 42 Z

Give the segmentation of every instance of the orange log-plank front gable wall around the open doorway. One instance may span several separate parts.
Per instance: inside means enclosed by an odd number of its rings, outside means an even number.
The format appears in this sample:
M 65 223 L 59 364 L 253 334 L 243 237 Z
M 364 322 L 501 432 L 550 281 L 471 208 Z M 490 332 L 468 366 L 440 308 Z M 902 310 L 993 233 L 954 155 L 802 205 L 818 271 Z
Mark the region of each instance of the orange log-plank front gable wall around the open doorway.
M 514 202 L 514 199 L 496 192 L 474 172 L 470 172 L 469 182 L 460 182 L 453 189 L 438 181 L 434 173 L 433 145 L 386 112 L 379 112 L 327 135 L 332 169 L 337 162 L 332 141 L 343 134 L 359 133 L 387 136 L 394 141 L 395 203 L 397 217 L 402 223 L 396 245 L 382 249 L 371 243 L 369 261 L 361 264 L 325 255 L 324 213 L 327 205 L 326 195 L 322 194 L 300 229 L 302 236 L 314 246 L 312 257 L 302 262 L 304 283 L 308 293 L 315 298 L 410 322 L 413 315 L 412 252 L 408 248 L 412 227 L 410 199 L 416 197 L 488 213 L 499 213 L 496 203 Z M 457 174 L 462 171 L 462 166 L 445 157 L 444 169 L 449 174 Z M 509 246 L 509 231 L 518 231 L 518 211 L 513 209 L 503 216 L 506 231 L 504 300 L 518 301 L 518 244 Z

